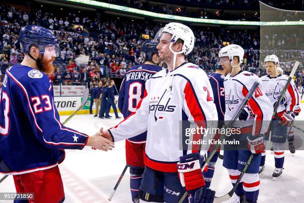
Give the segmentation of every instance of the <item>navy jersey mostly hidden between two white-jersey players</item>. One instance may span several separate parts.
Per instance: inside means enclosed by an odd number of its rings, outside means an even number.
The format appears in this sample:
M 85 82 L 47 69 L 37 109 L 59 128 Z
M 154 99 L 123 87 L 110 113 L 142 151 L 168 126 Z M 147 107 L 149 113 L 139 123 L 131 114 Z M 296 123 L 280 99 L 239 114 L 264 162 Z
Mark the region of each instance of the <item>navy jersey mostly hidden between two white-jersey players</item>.
M 219 120 L 224 120 L 225 116 L 225 76 L 219 73 L 212 73 L 208 76 L 212 92 L 214 95 L 214 103 L 216 104 Z

